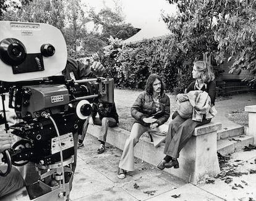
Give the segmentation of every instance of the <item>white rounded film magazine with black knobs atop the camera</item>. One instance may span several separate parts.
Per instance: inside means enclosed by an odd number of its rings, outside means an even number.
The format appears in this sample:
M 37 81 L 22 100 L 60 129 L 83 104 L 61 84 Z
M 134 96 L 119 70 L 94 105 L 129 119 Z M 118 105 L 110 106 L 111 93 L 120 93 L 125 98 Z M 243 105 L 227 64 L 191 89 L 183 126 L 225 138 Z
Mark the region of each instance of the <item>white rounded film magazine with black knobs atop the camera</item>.
M 65 68 L 67 46 L 58 28 L 9 21 L 1 21 L 0 27 L 1 81 L 35 80 Z

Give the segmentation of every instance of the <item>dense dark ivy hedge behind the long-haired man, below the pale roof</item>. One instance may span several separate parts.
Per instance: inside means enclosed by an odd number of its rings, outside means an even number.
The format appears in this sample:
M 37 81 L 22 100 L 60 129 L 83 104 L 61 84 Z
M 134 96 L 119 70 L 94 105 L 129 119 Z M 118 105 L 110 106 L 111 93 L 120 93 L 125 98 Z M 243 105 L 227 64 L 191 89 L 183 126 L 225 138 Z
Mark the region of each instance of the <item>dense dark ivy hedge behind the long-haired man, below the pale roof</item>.
M 189 84 L 190 71 L 179 75 L 182 61 L 172 36 L 158 41 L 145 40 L 139 44 L 122 46 L 122 41 L 109 39 L 104 64 L 114 76 L 116 84 L 126 88 L 143 89 L 150 73 L 158 73 L 169 91 L 184 91 Z M 111 56 L 112 55 L 112 56 Z M 182 80 L 183 79 L 183 80 Z M 179 81 L 178 81 L 179 80 Z

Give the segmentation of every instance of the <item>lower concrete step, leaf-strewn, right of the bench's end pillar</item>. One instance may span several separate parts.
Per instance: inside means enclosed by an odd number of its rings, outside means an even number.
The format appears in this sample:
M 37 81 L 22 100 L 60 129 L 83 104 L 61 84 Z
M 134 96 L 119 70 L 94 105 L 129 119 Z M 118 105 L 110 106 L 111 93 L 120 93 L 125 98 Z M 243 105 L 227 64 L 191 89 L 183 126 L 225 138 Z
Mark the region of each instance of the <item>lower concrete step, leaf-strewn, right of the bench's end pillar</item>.
M 254 144 L 254 137 L 241 134 L 217 141 L 217 152 L 221 155 L 228 155 L 243 149 L 249 144 Z

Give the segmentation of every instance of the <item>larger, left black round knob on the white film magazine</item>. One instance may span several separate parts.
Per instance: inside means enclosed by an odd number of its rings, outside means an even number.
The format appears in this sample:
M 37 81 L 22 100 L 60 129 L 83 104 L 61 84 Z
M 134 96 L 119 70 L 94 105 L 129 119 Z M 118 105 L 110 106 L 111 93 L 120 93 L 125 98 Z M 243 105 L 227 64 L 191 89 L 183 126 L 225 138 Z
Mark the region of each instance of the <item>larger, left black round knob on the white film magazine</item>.
M 0 58 L 7 65 L 20 65 L 26 56 L 25 46 L 18 39 L 6 38 L 0 42 Z

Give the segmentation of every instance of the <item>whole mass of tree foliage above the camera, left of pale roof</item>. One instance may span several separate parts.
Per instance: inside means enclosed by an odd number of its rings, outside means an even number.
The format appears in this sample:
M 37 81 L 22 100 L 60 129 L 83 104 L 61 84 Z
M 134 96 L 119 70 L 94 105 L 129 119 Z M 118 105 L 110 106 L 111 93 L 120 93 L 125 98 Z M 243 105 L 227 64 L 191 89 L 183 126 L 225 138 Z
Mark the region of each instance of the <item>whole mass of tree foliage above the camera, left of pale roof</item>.
M 69 56 L 76 59 L 95 52 L 102 55 L 110 35 L 129 38 L 137 33 L 137 29 L 124 23 L 121 9 L 116 13 L 105 8 L 95 14 L 94 9 L 80 0 L 22 0 L 20 4 L 0 1 L 1 20 L 48 23 L 59 28 L 66 39 Z M 96 25 L 94 31 L 88 31 L 90 21 Z

